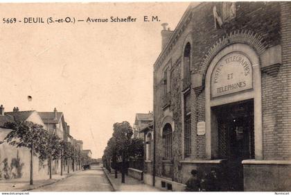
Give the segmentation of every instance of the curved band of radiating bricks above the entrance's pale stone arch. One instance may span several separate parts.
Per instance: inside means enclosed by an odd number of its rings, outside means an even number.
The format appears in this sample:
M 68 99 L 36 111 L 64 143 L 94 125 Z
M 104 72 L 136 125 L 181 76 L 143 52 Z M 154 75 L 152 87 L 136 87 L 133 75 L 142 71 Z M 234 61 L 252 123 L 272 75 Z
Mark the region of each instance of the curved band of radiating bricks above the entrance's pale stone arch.
M 224 49 L 224 47 L 235 43 L 243 43 L 252 46 L 258 55 L 261 55 L 261 53 L 267 49 L 265 40 L 258 33 L 254 33 L 253 31 L 248 30 L 233 31 L 227 35 L 224 35 L 219 39 L 219 41 L 215 42 L 215 44 L 211 47 L 211 49 L 209 49 L 204 59 L 202 60 L 202 65 L 200 67 L 196 67 L 193 72 L 205 75 L 206 69 L 214 56 L 216 56 L 220 50 Z

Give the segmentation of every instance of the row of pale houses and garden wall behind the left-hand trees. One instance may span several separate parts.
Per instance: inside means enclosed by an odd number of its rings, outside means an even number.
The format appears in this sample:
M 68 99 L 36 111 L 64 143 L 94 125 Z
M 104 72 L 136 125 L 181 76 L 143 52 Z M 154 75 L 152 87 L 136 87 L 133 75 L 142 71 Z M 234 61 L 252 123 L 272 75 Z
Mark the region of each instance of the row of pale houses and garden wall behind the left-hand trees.
M 55 133 L 60 139 L 70 142 L 73 146 L 91 158 L 91 150 L 83 150 L 82 140 L 73 138 L 70 134 L 70 126 L 64 119 L 64 113 L 58 112 L 55 108 L 53 112 L 37 112 L 36 110 L 21 111 L 18 107 L 13 108 L 12 112 L 4 112 L 3 105 L 0 106 L 0 179 L 29 178 L 30 173 L 30 153 L 26 148 L 16 148 L 3 139 L 10 133 L 10 129 L 3 128 L 6 122 L 32 121 L 35 124 L 44 126 L 50 133 Z M 33 172 L 35 178 L 47 178 L 48 164 L 39 161 L 34 157 Z M 76 164 L 64 162 L 64 170 L 73 170 Z M 52 173 L 60 173 L 60 160 L 53 160 Z

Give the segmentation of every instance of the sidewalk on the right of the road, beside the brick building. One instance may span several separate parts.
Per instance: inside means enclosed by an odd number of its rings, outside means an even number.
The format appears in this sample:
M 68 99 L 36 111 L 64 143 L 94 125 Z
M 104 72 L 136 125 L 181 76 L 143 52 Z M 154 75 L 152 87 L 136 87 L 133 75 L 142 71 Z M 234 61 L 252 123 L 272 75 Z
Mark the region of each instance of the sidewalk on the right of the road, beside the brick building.
M 103 171 L 107 176 L 109 182 L 115 191 L 119 192 L 159 192 L 160 189 L 144 184 L 142 181 L 136 180 L 130 176 L 125 175 L 125 183 L 121 183 L 121 173 L 118 173 L 118 177 L 114 178 L 114 170 L 109 173 L 107 169 L 103 167 Z

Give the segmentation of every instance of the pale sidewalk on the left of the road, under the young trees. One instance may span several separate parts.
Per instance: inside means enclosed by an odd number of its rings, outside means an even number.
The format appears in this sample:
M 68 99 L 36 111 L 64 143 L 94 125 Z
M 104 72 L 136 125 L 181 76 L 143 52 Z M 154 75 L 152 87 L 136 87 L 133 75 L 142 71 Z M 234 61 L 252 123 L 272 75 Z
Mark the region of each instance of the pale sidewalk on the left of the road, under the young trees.
M 17 178 L 11 180 L 0 180 L 0 192 L 21 192 L 21 191 L 29 191 L 32 189 L 37 189 L 38 187 L 43 187 L 45 185 L 51 185 L 53 183 L 57 183 L 64 178 L 71 177 L 74 173 L 78 173 L 78 171 L 72 173 L 64 173 L 63 176 L 60 176 L 60 173 L 54 174 L 52 179 L 33 179 L 33 185 L 29 185 L 29 178 Z M 49 176 L 48 176 L 49 177 Z

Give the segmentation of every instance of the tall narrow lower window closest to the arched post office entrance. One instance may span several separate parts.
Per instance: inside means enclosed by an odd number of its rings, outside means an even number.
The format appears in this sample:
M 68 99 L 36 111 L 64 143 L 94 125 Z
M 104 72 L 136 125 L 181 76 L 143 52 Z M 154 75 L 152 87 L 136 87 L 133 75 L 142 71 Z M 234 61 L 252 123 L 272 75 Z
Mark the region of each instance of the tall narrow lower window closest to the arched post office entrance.
M 191 156 L 191 108 L 190 92 L 184 94 L 184 157 Z

